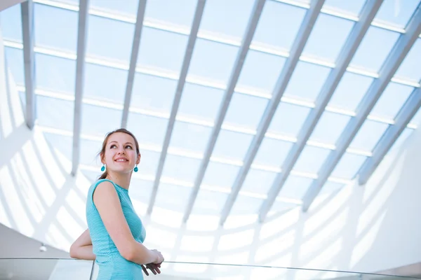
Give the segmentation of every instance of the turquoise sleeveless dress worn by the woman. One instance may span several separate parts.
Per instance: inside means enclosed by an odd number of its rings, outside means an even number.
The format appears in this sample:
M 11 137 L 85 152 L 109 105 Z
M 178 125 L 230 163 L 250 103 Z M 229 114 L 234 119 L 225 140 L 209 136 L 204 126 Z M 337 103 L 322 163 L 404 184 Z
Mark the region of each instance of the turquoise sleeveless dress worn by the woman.
M 96 255 L 95 262 L 98 264 L 99 272 L 97 280 L 142 280 L 142 267 L 135 262 L 130 262 L 123 258 L 112 241 L 105 228 L 98 210 L 93 203 L 93 192 L 98 185 L 107 179 L 101 179 L 93 183 L 88 190 L 86 203 L 86 220 L 88 222 L 89 233 L 93 244 L 93 253 Z M 145 228 L 135 213 L 133 204 L 128 196 L 128 190 L 121 188 L 116 183 L 109 181 L 119 195 L 121 208 L 126 217 L 126 221 L 131 233 L 136 241 L 143 243 L 145 241 Z M 98 188 L 100 188 L 99 186 Z

